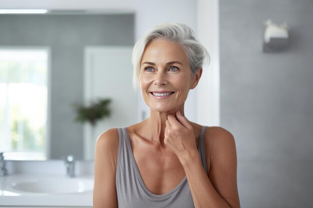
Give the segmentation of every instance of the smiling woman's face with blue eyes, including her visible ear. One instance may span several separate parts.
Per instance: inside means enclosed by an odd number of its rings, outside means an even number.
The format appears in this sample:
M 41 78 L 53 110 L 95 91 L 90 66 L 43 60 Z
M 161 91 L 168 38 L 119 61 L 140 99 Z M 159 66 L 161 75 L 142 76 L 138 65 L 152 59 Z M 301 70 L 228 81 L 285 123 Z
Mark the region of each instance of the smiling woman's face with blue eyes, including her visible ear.
M 155 39 L 144 49 L 139 87 L 144 102 L 158 112 L 177 111 L 184 104 L 189 89 L 201 76 L 192 76 L 184 49 L 175 42 Z

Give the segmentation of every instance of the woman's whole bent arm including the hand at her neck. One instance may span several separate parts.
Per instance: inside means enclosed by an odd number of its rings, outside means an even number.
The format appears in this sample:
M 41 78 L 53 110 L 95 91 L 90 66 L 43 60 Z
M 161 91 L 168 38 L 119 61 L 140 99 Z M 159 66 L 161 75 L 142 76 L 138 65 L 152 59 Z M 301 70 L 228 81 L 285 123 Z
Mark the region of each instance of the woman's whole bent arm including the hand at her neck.
M 206 161 L 210 164 L 207 176 L 191 125 L 179 113 L 176 113 L 176 119 L 173 115 L 168 116 L 164 143 L 184 168 L 195 208 L 239 208 L 233 136 L 219 127 L 205 132 Z

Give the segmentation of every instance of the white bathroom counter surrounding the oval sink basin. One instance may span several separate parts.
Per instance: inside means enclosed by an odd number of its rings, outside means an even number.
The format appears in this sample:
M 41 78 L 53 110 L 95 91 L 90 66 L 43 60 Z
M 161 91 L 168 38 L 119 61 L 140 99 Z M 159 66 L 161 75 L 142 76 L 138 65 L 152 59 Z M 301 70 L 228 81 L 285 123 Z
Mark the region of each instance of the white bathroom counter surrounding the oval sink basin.
M 51 181 L 62 178 L 64 175 L 42 174 L 0 177 L 0 207 L 92 207 L 92 190 L 81 193 L 32 193 L 16 190 L 12 186 L 16 182 L 28 182 L 34 179 Z M 80 176 L 79 179 L 93 181 L 90 175 Z

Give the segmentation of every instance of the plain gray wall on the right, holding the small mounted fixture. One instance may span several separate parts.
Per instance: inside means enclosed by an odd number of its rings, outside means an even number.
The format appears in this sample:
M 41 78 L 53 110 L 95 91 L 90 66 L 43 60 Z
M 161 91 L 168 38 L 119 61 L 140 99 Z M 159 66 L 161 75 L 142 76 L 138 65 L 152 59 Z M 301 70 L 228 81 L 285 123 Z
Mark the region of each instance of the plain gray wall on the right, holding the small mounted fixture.
M 242 208 L 313 207 L 313 1 L 220 0 L 221 126 L 235 137 Z M 289 26 L 263 53 L 263 22 Z

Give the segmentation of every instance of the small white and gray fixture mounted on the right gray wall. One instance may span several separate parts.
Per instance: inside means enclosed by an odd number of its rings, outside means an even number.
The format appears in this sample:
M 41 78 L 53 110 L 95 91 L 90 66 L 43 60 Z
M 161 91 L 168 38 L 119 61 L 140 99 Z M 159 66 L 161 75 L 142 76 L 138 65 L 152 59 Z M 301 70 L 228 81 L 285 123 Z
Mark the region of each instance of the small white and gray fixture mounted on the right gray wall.
M 277 25 L 270 19 L 264 22 L 266 25 L 264 31 L 264 52 L 281 51 L 288 46 L 288 27 L 286 23 Z

